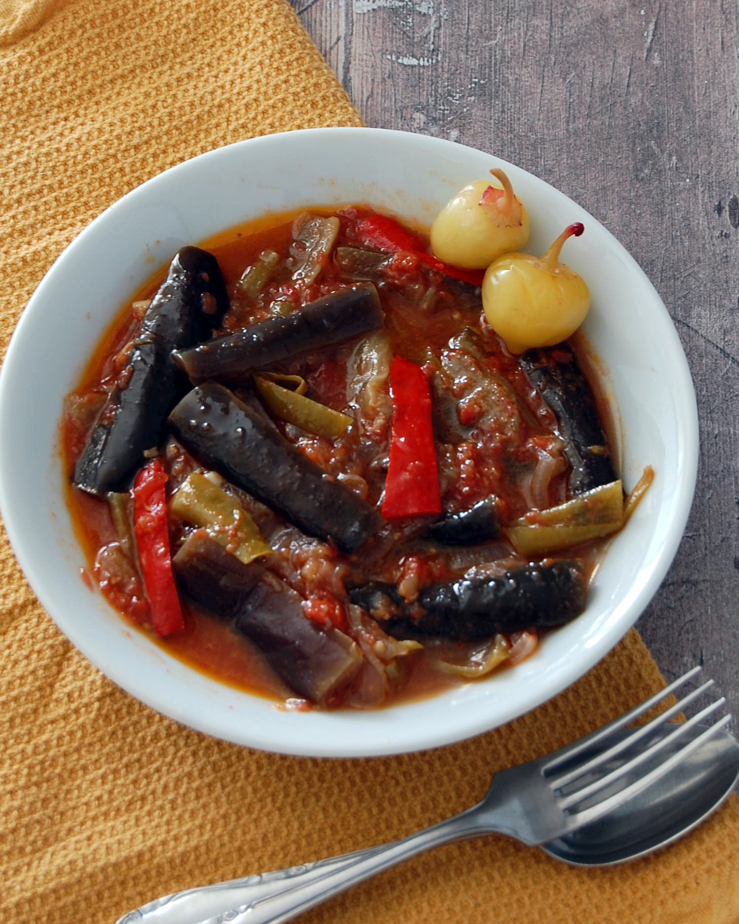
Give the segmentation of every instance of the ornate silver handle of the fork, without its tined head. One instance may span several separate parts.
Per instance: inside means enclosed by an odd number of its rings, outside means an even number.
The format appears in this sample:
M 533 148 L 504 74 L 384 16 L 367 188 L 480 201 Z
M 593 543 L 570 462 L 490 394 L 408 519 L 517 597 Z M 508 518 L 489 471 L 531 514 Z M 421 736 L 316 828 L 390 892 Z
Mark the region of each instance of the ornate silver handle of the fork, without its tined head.
M 116 924 L 279 924 L 424 850 L 483 833 L 477 808 L 402 841 L 165 895 Z

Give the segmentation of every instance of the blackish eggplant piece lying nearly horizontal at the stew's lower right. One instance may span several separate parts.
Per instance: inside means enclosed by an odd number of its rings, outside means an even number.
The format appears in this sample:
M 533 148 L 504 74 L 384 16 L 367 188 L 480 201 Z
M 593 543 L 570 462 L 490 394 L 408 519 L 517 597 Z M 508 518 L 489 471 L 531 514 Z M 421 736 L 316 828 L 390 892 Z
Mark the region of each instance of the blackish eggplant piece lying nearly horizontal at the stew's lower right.
M 462 578 L 421 590 L 407 605 L 389 584 L 349 591 L 394 638 L 437 636 L 454 641 L 497 632 L 562 626 L 585 609 L 588 581 L 579 561 L 524 565 L 499 577 Z

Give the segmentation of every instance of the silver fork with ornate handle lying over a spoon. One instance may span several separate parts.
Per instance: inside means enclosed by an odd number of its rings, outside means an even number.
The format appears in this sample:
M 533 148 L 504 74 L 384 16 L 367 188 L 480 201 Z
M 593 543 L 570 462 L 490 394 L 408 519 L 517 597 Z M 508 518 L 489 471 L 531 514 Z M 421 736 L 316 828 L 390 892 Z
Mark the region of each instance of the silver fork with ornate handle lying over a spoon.
M 665 728 L 665 723 L 712 686 L 713 681 L 708 680 L 650 722 L 624 733 L 628 724 L 642 718 L 699 671 L 700 667 L 694 667 L 660 693 L 574 744 L 495 773 L 478 805 L 404 840 L 165 895 L 129 912 L 116 924 L 279 924 L 431 847 L 488 833 L 507 834 L 529 846 L 563 837 L 622 806 L 731 722 L 731 715 L 724 715 L 700 734 L 692 732 L 721 708 L 725 702 L 721 697 L 686 722 Z M 676 749 L 679 741 L 682 744 Z M 660 760 L 663 751 L 669 756 Z M 611 769 L 622 755 L 623 762 Z M 644 764 L 648 769 L 642 771 Z M 630 781 L 618 788 L 624 777 Z

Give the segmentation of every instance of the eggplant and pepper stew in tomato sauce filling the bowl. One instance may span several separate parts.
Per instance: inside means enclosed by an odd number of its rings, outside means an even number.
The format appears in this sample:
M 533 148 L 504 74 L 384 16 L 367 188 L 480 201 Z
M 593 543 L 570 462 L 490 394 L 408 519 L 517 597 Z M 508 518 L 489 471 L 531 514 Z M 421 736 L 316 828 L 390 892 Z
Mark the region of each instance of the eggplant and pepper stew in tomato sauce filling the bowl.
M 568 343 L 515 356 L 482 274 L 359 206 L 181 249 L 62 420 L 97 587 L 201 670 L 376 708 L 513 666 L 624 523 Z

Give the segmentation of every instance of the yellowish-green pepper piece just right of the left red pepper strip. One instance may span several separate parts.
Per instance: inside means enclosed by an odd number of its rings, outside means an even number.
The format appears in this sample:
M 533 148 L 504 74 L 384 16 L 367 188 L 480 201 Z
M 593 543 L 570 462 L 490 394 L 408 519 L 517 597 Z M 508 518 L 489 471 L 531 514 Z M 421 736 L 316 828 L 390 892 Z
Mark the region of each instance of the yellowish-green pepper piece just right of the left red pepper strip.
M 200 472 L 183 481 L 172 499 L 172 512 L 193 526 L 206 529 L 226 552 L 244 565 L 272 552 L 244 508 Z

